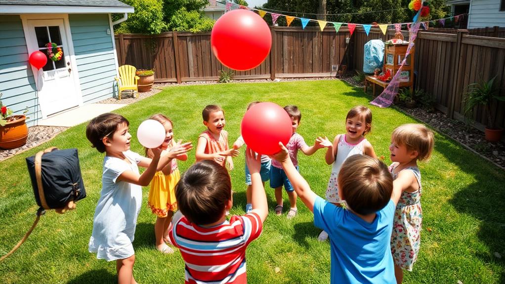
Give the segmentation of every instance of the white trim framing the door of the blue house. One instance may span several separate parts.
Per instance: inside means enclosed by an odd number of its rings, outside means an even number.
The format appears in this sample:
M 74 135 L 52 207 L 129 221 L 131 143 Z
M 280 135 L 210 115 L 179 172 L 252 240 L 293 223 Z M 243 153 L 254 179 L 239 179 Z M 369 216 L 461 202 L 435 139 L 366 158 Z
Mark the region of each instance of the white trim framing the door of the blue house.
M 30 35 L 30 27 L 28 25 L 28 20 L 51 20 L 51 19 L 61 19 L 63 20 L 63 27 L 65 29 L 65 37 L 67 39 L 67 46 L 68 46 L 68 56 L 70 58 L 70 67 L 72 68 L 72 79 L 74 81 L 74 87 L 75 87 L 75 94 L 77 96 L 77 104 L 81 106 L 83 104 L 82 102 L 82 92 L 81 92 L 81 84 L 79 82 L 79 72 L 77 71 L 77 62 L 75 60 L 75 53 L 74 53 L 74 43 L 72 41 L 72 33 L 70 32 L 70 22 L 68 20 L 68 14 L 45 14 L 45 15 L 19 15 L 21 18 L 21 22 L 23 23 L 23 32 L 25 35 L 25 41 L 26 41 L 26 48 L 28 50 L 28 54 L 31 54 L 32 52 L 36 51 L 36 49 L 32 49 L 31 46 L 36 46 L 33 41 L 35 39 L 32 38 Z M 38 82 L 40 80 L 40 73 L 38 70 L 36 70 L 34 67 L 31 67 L 32 69 L 32 74 L 33 78 L 35 79 L 35 82 Z M 35 74 L 38 75 L 39 78 L 35 78 Z M 37 90 L 39 89 L 38 86 L 36 86 Z M 37 92 L 38 94 L 38 92 Z M 40 99 L 38 99 L 38 103 L 40 105 Z M 44 111 L 41 111 L 42 113 L 42 119 L 46 119 L 47 116 L 44 115 Z

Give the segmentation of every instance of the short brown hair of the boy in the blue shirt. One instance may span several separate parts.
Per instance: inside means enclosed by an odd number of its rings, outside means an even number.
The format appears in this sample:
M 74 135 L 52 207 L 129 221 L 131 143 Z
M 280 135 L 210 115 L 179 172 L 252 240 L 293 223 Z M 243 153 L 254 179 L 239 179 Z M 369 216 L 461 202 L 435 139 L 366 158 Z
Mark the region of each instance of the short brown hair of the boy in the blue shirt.
M 343 162 L 338 190 L 350 209 L 367 215 L 387 205 L 393 192 L 393 178 L 380 160 L 356 154 Z

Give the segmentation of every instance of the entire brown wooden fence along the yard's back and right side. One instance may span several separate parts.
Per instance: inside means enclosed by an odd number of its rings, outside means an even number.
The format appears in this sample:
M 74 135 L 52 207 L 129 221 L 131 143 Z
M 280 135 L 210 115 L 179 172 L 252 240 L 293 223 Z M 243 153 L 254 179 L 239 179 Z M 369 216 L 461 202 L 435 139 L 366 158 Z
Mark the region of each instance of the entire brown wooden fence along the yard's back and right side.
M 235 79 L 330 77 L 336 75 L 334 67 L 338 65 L 361 71 L 364 44 L 371 39 L 390 39 L 395 33 L 388 30 L 383 35 L 378 28 L 372 28 L 367 36 L 358 27 L 346 43 L 347 28 L 340 28 L 338 33 L 333 28 L 321 32 L 312 27 L 272 27 L 271 31 L 272 49 L 267 59 L 253 70 L 235 72 Z M 468 33 L 421 31 L 416 39 L 415 86 L 432 95 L 437 109 L 459 120 L 464 120 L 465 86 L 496 75 L 495 84 L 501 86 L 501 95 L 505 95 L 505 38 Z M 403 35 L 408 39 L 407 32 Z M 155 82 L 160 83 L 215 81 L 219 71 L 227 70 L 211 50 L 210 33 L 119 34 L 116 48 L 119 65 L 154 67 Z M 492 111 L 496 125 L 505 127 L 505 102 L 493 102 Z M 483 130 L 484 108 L 474 111 L 474 120 L 476 127 Z

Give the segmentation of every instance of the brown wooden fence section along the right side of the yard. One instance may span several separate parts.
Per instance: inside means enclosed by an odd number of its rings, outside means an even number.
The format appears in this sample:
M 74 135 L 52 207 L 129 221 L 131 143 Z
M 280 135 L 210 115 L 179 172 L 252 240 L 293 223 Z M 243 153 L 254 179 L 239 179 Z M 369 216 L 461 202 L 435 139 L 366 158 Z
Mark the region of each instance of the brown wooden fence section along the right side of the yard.
M 363 70 L 364 42 L 372 38 L 386 40 L 391 33 L 383 35 L 380 30 L 372 29 L 367 37 L 363 29 L 355 31 L 356 70 Z M 437 109 L 461 121 L 465 120 L 464 92 L 469 84 L 496 76 L 495 84 L 501 87 L 500 95 L 505 96 L 505 38 L 468 33 L 468 30 L 453 34 L 420 31 L 414 56 L 416 88 L 431 94 Z M 494 101 L 491 111 L 496 126 L 505 127 L 505 102 Z M 474 109 L 473 120 L 478 129 L 484 130 L 487 124 L 484 107 Z

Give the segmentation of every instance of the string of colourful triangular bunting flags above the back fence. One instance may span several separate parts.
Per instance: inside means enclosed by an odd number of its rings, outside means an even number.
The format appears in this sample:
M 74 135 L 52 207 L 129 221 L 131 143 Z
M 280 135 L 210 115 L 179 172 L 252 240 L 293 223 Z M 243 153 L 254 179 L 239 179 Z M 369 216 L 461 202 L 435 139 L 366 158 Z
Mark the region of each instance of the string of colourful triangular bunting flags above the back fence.
M 342 27 L 342 25 L 345 25 L 349 29 L 350 35 L 352 35 L 352 33 L 354 33 L 357 26 L 362 26 L 368 36 L 370 33 L 370 29 L 372 27 L 378 27 L 382 31 L 383 34 L 386 34 L 389 26 L 394 26 L 394 28 L 397 31 L 399 31 L 401 29 L 401 27 L 405 25 L 405 26 L 407 26 L 407 29 L 410 30 L 411 25 L 414 23 L 414 22 L 408 22 L 408 23 L 395 23 L 395 24 L 375 24 L 375 23 L 374 24 L 355 24 L 355 23 L 330 22 L 330 21 L 313 20 L 313 19 L 308 19 L 308 18 L 300 18 L 300 17 L 295 17 L 295 16 L 288 16 L 288 15 L 268 12 L 268 11 L 264 11 L 264 10 L 260 10 L 260 9 L 256 9 L 256 8 L 249 8 L 249 7 L 239 5 L 236 3 L 232 3 L 229 1 L 223 2 L 223 1 L 217 1 L 217 0 L 210 0 L 210 3 L 214 6 L 216 5 L 217 2 L 225 3 L 226 12 L 228 12 L 228 11 L 232 10 L 232 8 L 234 8 L 234 9 L 246 9 L 246 10 L 250 10 L 250 11 L 256 11 L 256 12 L 258 12 L 258 14 L 262 18 L 264 18 L 265 15 L 270 14 L 272 17 L 272 23 L 274 25 L 277 23 L 277 20 L 279 19 L 279 17 L 282 16 L 286 19 L 286 24 L 288 27 L 291 25 L 291 23 L 294 20 L 299 20 L 301 22 L 302 29 L 305 29 L 305 27 L 307 27 L 307 24 L 309 24 L 309 22 L 316 22 L 316 23 L 318 23 L 321 31 L 323 31 L 327 25 L 330 25 L 330 26 L 333 26 L 333 28 L 335 28 L 335 32 L 338 32 L 339 29 Z M 423 26 L 423 28 L 425 30 L 427 30 L 427 29 L 429 29 L 430 23 L 432 23 L 432 24 L 438 23 L 438 25 L 445 26 L 446 20 L 454 21 L 455 23 L 458 23 L 460 20 L 463 20 L 464 17 L 467 15 L 469 15 L 469 14 L 461 14 L 461 15 L 457 15 L 457 16 L 451 16 L 451 17 L 446 17 L 446 18 L 441 18 L 441 19 L 436 19 L 436 20 L 423 21 L 423 22 L 421 22 L 421 25 Z

